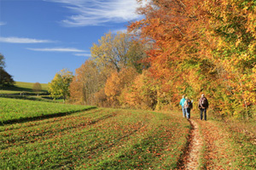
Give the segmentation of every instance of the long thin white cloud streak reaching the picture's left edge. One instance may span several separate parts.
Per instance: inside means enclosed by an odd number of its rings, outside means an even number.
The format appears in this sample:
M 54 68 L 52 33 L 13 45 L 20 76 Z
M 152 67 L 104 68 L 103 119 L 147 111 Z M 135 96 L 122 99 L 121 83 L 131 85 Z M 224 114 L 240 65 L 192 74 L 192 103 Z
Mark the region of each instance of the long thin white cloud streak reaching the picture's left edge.
M 0 37 L 0 42 L 8 43 L 49 43 L 50 40 L 38 40 L 26 37 Z

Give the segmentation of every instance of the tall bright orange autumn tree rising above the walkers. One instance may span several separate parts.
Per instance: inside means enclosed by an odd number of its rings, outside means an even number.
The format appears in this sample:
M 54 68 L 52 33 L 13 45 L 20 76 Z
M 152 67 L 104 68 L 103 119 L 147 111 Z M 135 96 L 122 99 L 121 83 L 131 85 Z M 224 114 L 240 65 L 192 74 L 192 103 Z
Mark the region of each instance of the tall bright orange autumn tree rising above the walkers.
M 150 1 L 138 8 L 145 19 L 129 26 L 131 31 L 140 30 L 145 43 L 153 44 L 147 51 L 149 71 L 158 83 L 160 101 L 160 96 L 166 94 L 170 95 L 169 103 L 177 103 L 182 94 L 196 98 L 203 91 L 211 91 L 212 84 L 208 81 L 214 80 L 216 73 L 211 52 L 207 51 L 210 42 L 201 27 L 206 23 L 201 17 L 202 3 L 201 0 Z

